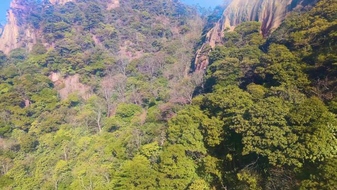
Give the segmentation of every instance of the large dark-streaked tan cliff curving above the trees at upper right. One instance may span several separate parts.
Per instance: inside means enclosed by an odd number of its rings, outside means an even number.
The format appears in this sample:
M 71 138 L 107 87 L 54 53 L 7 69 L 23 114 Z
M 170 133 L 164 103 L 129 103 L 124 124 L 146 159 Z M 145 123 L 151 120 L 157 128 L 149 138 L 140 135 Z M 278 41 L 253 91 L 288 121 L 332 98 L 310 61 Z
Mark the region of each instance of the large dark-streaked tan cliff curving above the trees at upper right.
M 197 51 L 195 69 L 202 70 L 208 65 L 209 51 L 221 44 L 226 28 L 233 30 L 245 21 L 259 21 L 264 36 L 275 30 L 289 12 L 301 8 L 315 0 L 233 0 L 225 9 L 220 20 L 207 33 L 204 44 Z

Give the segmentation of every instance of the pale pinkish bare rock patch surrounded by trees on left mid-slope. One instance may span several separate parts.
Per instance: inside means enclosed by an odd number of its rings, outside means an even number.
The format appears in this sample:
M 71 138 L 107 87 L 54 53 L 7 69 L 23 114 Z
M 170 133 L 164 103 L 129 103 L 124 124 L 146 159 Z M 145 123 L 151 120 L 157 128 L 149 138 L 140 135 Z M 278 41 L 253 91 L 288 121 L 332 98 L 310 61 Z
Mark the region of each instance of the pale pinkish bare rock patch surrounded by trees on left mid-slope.
M 77 93 L 83 99 L 91 97 L 90 86 L 82 84 L 79 81 L 78 74 L 63 78 L 60 73 L 52 72 L 49 78 L 54 82 L 55 87 L 58 88 L 59 95 L 62 99 L 67 99 L 71 93 Z

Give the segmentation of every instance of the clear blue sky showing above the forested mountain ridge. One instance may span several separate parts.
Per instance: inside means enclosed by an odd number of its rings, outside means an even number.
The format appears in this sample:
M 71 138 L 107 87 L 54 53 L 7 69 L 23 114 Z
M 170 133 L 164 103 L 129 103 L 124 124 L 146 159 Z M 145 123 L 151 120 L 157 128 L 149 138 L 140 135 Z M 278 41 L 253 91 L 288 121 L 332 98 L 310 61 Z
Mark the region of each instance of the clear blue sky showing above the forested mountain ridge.
M 0 23 L 6 22 L 6 13 L 9 8 L 9 3 L 11 0 L 0 0 Z M 212 7 L 214 8 L 216 5 L 219 5 L 223 2 L 223 0 L 182 0 L 188 4 L 200 4 L 202 7 Z

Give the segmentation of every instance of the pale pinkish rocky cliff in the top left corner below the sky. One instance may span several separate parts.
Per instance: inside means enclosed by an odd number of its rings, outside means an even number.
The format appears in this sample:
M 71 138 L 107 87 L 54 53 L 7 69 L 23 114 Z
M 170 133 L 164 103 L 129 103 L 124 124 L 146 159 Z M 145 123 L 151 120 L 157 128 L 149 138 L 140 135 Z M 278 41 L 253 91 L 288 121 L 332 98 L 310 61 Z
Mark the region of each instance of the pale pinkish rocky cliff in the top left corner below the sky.
M 8 54 L 12 49 L 25 46 L 29 49 L 36 43 L 35 32 L 32 28 L 23 27 L 18 23 L 18 17 L 27 11 L 24 0 L 13 0 L 7 13 L 7 24 L 0 37 L 0 51 Z

